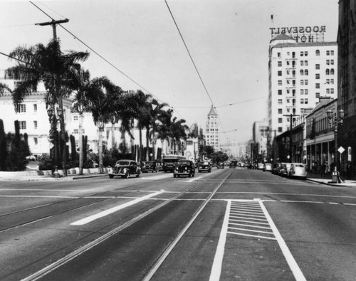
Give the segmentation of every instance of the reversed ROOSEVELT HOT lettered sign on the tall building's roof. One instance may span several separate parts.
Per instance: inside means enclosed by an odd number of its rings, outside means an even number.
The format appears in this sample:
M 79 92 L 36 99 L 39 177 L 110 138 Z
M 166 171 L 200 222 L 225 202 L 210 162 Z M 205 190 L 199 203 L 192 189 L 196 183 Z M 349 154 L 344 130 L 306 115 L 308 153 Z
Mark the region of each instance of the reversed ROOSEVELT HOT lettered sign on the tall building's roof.
M 292 27 L 273 27 L 269 28 L 272 39 L 280 34 L 286 34 L 297 42 L 323 42 L 325 26 L 292 26 Z

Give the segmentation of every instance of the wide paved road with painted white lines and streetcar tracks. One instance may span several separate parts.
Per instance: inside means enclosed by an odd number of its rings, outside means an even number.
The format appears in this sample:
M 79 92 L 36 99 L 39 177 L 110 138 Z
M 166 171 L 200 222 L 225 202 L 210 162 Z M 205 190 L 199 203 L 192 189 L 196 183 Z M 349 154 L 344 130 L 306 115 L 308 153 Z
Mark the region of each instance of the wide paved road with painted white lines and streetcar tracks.
M 247 169 L 2 182 L 0 280 L 355 280 L 355 218 L 355 189 Z

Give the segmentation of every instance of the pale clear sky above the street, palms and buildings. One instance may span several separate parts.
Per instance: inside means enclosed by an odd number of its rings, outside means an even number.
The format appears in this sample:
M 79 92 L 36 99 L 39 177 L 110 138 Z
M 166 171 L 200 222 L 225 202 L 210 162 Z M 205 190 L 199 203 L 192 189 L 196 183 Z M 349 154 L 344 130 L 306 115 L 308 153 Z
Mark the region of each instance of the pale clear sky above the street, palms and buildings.
M 189 126 L 205 128 L 214 105 L 221 142 L 246 142 L 253 122 L 267 119 L 270 28 L 326 26 L 325 41 L 336 41 L 337 2 L 32 1 L 38 9 L 30 1 L 0 0 L 0 52 L 46 45 L 52 28 L 35 23 L 68 18 L 62 26 L 73 35 L 56 28 L 61 49 L 89 51 L 82 66 L 91 78 L 106 76 L 123 90 L 143 90 L 173 107 Z M 0 55 L 1 70 L 13 64 Z

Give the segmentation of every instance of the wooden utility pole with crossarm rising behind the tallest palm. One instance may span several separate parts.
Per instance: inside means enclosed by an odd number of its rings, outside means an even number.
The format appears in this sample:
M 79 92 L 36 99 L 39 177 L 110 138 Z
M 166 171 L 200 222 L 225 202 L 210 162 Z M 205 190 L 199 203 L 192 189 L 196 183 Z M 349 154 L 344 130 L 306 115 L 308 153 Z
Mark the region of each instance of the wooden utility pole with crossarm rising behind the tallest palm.
M 36 5 L 35 5 L 36 6 Z M 57 24 L 60 23 L 68 23 L 69 19 L 61 19 L 58 21 L 55 21 L 54 19 L 52 21 L 48 21 L 45 23 L 36 23 L 36 26 L 52 26 L 53 29 L 53 41 L 57 41 L 57 32 L 56 32 L 56 27 Z M 59 46 L 58 46 L 58 55 L 60 53 Z M 56 84 L 58 81 L 56 81 Z M 60 116 L 60 124 L 61 124 L 61 139 L 63 141 L 63 152 L 62 152 L 62 169 L 63 169 L 63 176 L 67 176 L 67 147 L 66 147 L 66 132 L 65 132 L 65 125 L 64 125 L 64 111 L 63 111 L 63 98 L 60 97 L 60 89 L 58 86 L 56 86 L 56 95 L 58 97 L 58 106 L 62 112 L 62 115 Z

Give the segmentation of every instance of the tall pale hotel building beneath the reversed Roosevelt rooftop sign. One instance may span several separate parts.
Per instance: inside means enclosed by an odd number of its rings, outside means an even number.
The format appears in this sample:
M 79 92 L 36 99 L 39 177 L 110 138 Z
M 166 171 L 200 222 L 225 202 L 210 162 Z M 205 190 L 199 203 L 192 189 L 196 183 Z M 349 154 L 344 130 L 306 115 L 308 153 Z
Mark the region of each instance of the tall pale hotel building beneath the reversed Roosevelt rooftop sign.
M 282 33 L 269 47 L 268 126 L 270 140 L 318 105 L 337 98 L 337 43 L 300 43 Z

